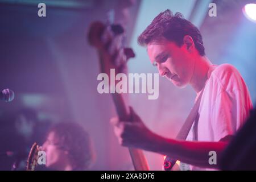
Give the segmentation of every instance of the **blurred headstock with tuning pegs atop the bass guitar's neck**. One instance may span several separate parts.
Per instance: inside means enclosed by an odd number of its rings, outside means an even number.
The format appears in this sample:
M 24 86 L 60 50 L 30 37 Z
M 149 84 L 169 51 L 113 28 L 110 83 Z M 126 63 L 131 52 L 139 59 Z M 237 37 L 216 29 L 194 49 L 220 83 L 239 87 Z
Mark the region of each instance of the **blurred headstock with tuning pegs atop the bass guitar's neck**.
M 100 53 L 101 72 L 108 74 L 112 68 L 116 69 L 117 73 L 125 72 L 127 60 L 135 57 L 133 49 L 123 46 L 124 32 L 120 24 L 90 24 L 88 42 Z

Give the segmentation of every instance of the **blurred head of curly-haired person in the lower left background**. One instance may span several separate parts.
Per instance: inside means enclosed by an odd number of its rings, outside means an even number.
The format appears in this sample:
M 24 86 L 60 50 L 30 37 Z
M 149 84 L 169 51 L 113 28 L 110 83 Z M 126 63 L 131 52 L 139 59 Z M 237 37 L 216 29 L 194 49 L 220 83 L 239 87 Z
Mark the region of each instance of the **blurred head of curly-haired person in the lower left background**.
M 85 170 L 94 160 L 88 133 L 74 122 L 54 125 L 41 149 L 46 152 L 46 167 L 58 171 Z

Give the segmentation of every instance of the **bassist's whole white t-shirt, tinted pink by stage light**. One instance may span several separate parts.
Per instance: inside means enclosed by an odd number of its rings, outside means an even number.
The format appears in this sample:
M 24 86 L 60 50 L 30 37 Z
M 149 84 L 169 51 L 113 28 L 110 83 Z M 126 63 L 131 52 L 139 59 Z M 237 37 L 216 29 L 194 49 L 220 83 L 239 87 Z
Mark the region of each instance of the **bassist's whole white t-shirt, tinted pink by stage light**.
M 230 64 L 213 65 L 200 102 L 197 140 L 218 142 L 227 135 L 234 135 L 251 109 L 249 91 L 237 69 Z M 193 140 L 193 126 L 187 140 Z M 190 169 L 205 170 L 195 166 Z

